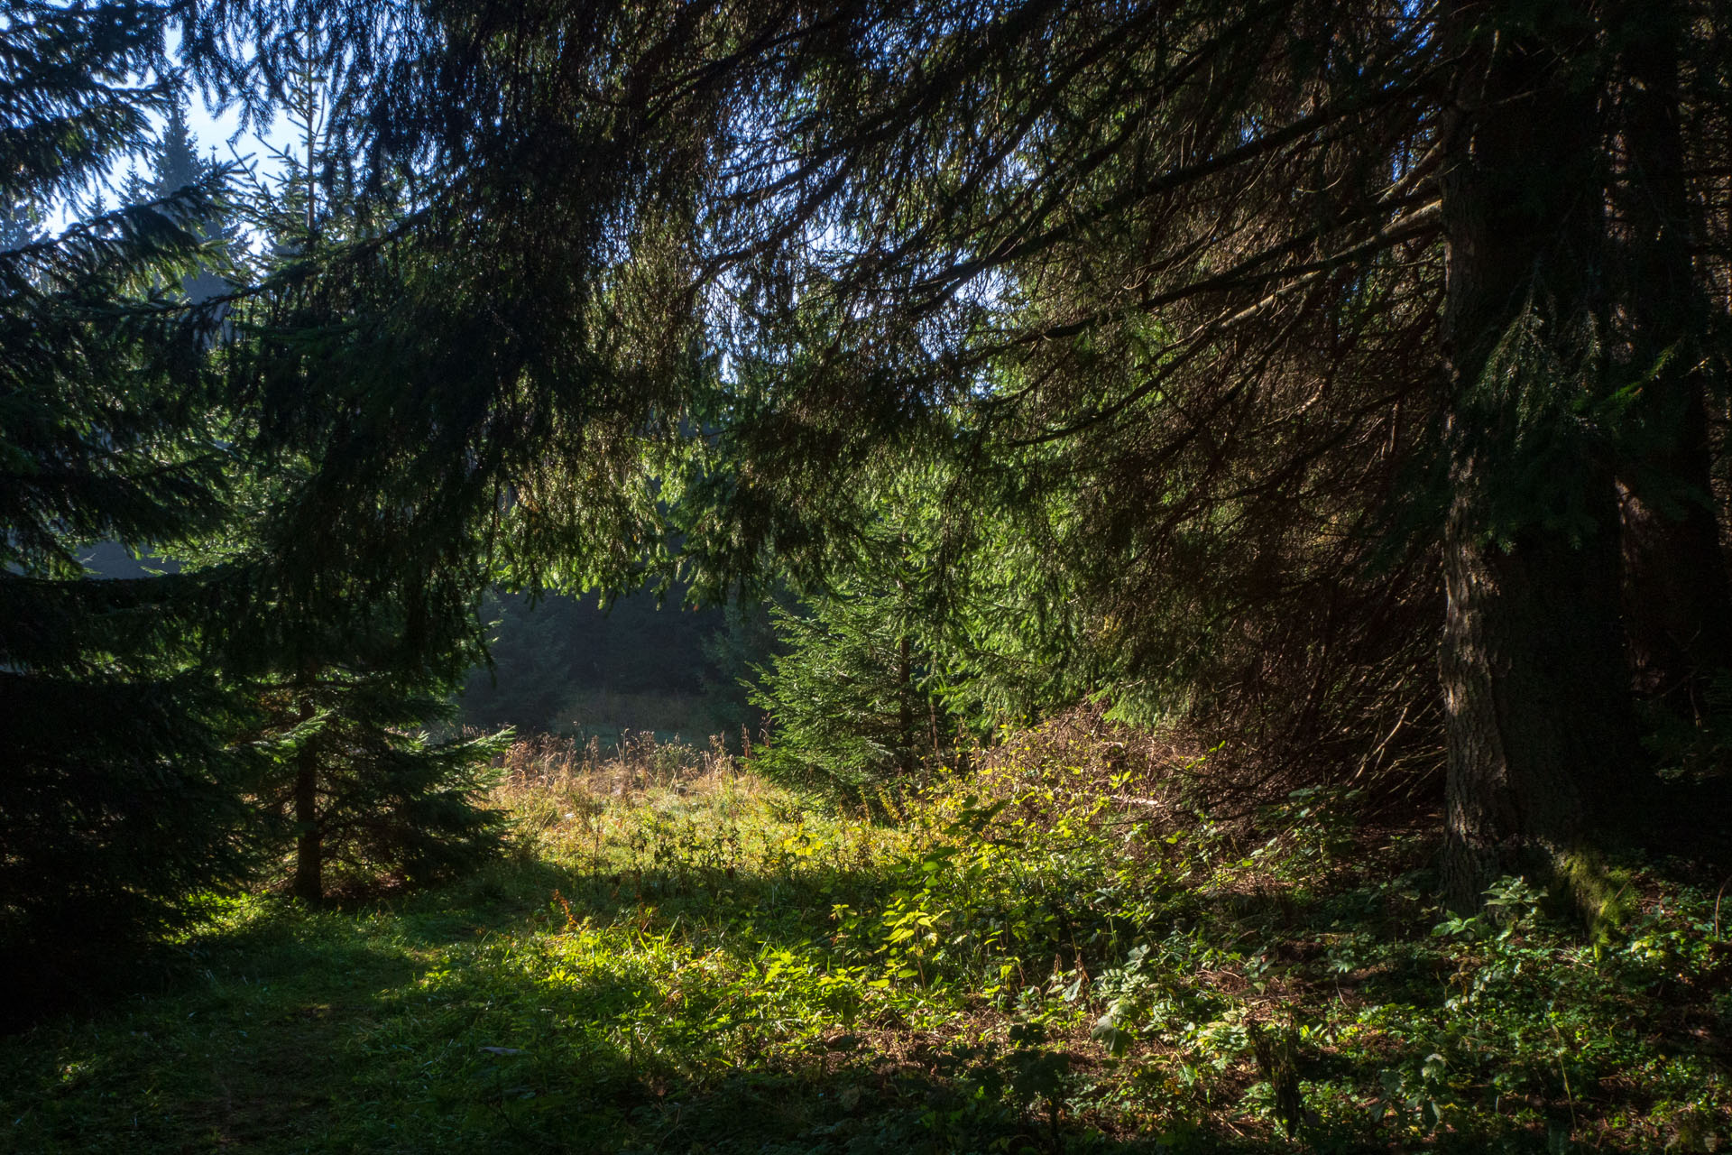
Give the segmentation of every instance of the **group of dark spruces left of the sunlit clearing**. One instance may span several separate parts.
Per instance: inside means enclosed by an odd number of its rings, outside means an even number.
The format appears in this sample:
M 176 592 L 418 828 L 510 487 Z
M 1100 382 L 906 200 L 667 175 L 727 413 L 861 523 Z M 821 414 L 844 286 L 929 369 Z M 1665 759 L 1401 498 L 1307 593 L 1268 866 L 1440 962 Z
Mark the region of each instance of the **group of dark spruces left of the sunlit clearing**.
M 232 166 L 196 156 L 163 16 L 21 5 L 0 31 L 5 196 L 21 206 L 0 251 L 9 1018 L 286 861 L 320 900 L 436 878 L 502 835 L 476 807 L 501 738 L 424 729 L 475 660 L 473 599 L 435 618 L 391 589 L 362 594 L 308 558 L 317 539 L 284 535 L 327 442 L 263 426 L 255 398 L 262 376 L 298 372 L 284 346 L 333 326 L 291 315 L 281 291 L 324 220 L 307 171 L 286 190 L 305 225 L 291 236 L 281 197 L 242 196 Z M 121 208 L 100 208 L 104 185 Z M 50 236 L 55 211 L 71 223 Z M 242 215 L 267 256 L 246 251 Z M 99 544 L 151 565 L 92 573 Z M 308 566 L 359 603 L 345 622 L 296 585 Z M 480 573 L 462 568 L 476 596 Z

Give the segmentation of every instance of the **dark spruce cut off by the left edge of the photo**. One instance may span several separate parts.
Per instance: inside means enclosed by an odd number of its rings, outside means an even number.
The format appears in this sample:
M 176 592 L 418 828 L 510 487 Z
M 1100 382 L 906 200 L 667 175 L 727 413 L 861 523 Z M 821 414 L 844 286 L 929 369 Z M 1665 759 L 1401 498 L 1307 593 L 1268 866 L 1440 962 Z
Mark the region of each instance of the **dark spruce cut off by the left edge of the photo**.
M 31 222 L 147 145 L 170 88 L 149 5 L 12 5 L 0 201 Z M 0 251 L 0 959 L 7 1006 L 178 925 L 249 868 L 246 710 L 203 658 L 206 577 L 97 580 L 94 542 L 161 549 L 222 519 L 210 312 L 168 286 L 211 255 L 223 171 Z M 17 241 L 23 241 L 21 244 Z

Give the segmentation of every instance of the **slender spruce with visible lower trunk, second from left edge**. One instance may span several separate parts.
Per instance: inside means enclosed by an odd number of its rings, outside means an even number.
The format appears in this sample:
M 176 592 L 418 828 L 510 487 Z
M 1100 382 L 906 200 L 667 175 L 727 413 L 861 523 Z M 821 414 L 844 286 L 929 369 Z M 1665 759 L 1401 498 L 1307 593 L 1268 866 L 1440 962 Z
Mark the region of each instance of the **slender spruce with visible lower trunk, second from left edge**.
M 239 561 L 253 575 L 248 651 L 232 655 L 232 670 L 265 715 L 274 758 L 260 802 L 289 888 L 319 902 L 334 885 L 424 883 L 497 854 L 504 819 L 481 795 L 509 731 L 449 732 L 447 703 L 485 655 L 476 615 L 487 571 L 475 545 L 357 571 L 329 537 L 338 530 L 301 528 L 326 497 L 326 471 L 352 452 L 341 440 L 353 429 L 322 407 L 367 403 L 371 367 L 346 360 L 343 334 L 404 291 L 388 270 L 355 261 L 395 223 L 391 190 L 362 203 L 346 182 L 326 107 L 341 47 L 317 7 L 301 17 L 284 90 L 296 142 L 279 156 L 277 189 L 255 204 L 274 256 L 263 289 L 234 315 L 230 353 L 242 388 L 267 393 L 265 421 L 248 414 L 236 428 L 246 500 L 206 561 Z M 430 580 L 442 590 L 435 604 Z

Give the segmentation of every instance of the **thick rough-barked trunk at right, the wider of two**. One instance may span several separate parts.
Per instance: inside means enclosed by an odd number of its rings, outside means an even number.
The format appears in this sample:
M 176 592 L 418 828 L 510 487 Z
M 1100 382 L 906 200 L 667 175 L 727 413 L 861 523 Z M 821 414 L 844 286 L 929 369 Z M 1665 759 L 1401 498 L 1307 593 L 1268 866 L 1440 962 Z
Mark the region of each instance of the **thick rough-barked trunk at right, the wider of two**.
M 1505 873 L 1581 845 L 1633 752 L 1618 613 L 1611 450 L 1583 421 L 1599 308 L 1592 28 L 1541 0 L 1531 23 L 1458 3 L 1464 87 L 1443 180 L 1451 374 L 1444 892 L 1479 906 Z

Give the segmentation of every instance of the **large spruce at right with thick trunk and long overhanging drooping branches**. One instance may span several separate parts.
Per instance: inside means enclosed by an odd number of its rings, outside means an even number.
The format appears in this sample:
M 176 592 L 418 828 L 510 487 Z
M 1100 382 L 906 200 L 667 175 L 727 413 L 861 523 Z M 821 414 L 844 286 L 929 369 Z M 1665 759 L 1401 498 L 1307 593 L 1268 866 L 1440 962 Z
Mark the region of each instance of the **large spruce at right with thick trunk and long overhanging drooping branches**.
M 438 293 L 381 319 L 447 341 L 397 374 L 454 419 L 402 423 L 426 509 L 509 490 L 530 578 L 684 428 L 715 582 L 847 566 L 932 469 L 940 592 L 1037 542 L 1031 630 L 1108 681 L 1441 729 L 1464 900 L 1628 793 L 1626 651 L 1685 713 L 1725 661 L 1713 5 L 338 10 L 357 156 L 426 190 Z M 194 12 L 265 99 L 294 5 Z

